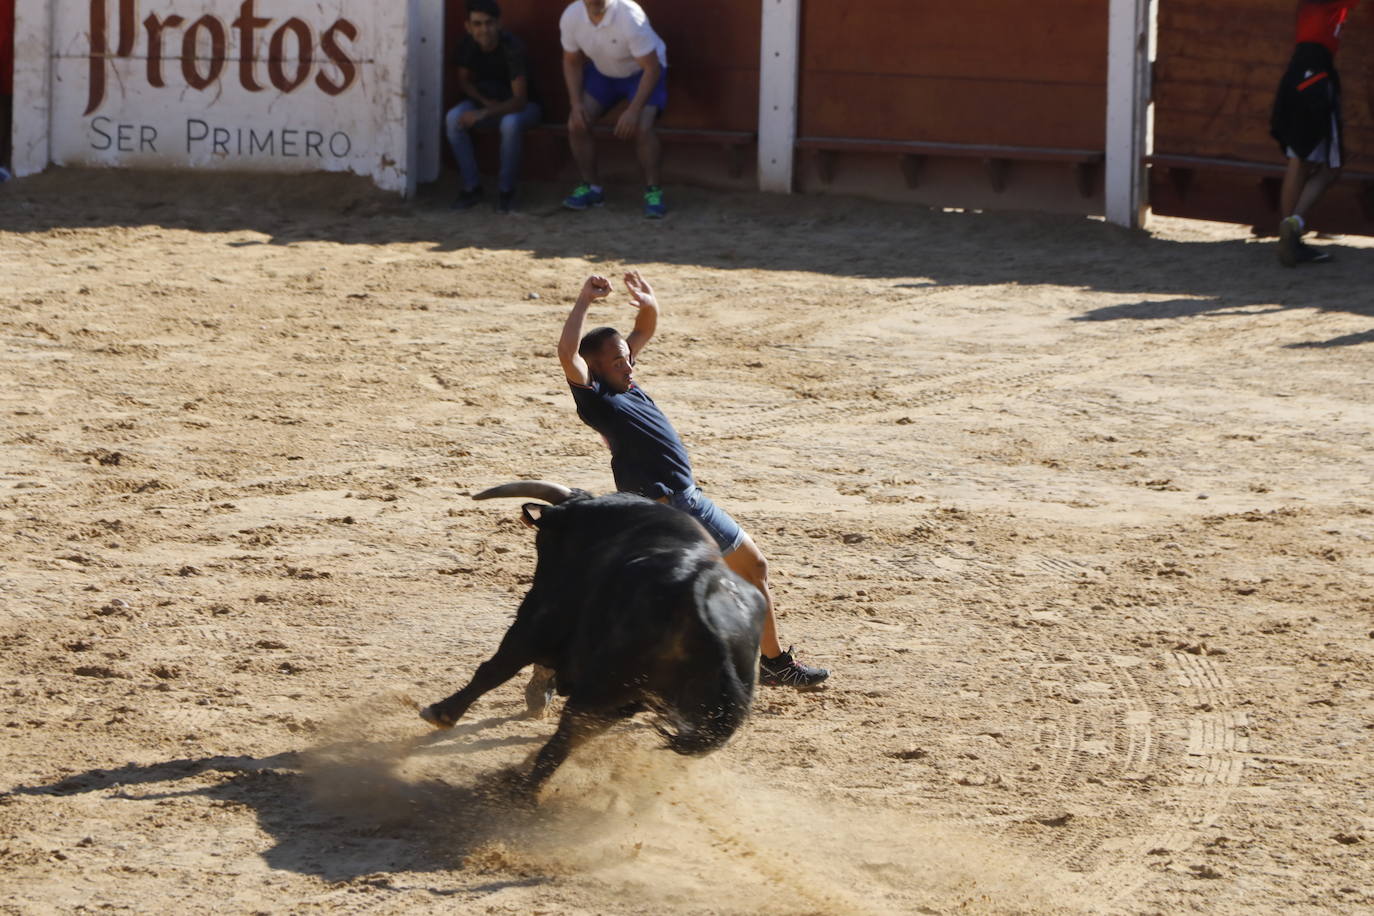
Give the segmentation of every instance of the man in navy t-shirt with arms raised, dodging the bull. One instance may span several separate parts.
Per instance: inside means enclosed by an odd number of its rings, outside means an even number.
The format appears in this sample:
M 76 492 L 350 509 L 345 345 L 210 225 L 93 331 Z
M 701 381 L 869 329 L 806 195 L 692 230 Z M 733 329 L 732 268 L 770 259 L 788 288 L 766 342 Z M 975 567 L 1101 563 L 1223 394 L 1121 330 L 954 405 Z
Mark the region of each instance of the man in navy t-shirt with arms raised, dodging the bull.
M 610 446 L 610 467 L 618 490 L 668 503 L 695 518 L 720 545 L 725 564 L 763 593 L 768 617 L 760 643 L 758 683 L 768 687 L 815 687 L 830 677 L 830 672 L 802 665 L 793 658 L 791 648 L 785 652 L 778 641 L 768 562 L 758 545 L 701 492 L 692 478 L 687 449 L 673 424 L 635 383 L 635 358 L 658 327 L 658 299 L 638 271 L 625 275 L 625 288 L 631 305 L 638 309 L 629 336 L 621 336 L 610 327 L 594 328 L 583 335 L 591 304 L 611 291 L 610 280 L 599 276 L 587 279 L 563 323 L 558 358 L 577 402 L 577 416 L 600 433 Z

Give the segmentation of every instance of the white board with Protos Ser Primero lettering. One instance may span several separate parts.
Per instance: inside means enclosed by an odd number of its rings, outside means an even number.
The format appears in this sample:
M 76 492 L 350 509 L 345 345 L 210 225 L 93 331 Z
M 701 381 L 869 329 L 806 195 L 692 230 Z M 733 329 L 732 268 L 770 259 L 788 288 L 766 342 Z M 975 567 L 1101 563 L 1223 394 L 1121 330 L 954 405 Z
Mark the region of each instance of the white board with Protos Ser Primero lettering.
M 51 161 L 354 172 L 409 194 L 415 5 L 54 0 Z

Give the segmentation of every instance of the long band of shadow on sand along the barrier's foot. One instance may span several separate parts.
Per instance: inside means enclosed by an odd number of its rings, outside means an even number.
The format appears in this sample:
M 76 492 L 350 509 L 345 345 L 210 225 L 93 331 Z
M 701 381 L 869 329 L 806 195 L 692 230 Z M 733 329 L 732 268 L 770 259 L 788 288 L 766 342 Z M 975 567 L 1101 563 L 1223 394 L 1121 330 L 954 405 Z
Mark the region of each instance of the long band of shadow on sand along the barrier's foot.
M 1231 235 L 1165 239 L 1101 220 L 1028 213 L 947 211 L 838 196 L 672 188 L 671 217 L 646 222 L 635 201 L 603 210 L 559 209 L 559 190 L 529 184 L 521 211 L 455 213 L 451 188 L 414 201 L 338 174 L 206 176 L 52 169 L 0 188 L 0 231 L 162 227 L 254 231 L 227 246 L 407 243 L 442 255 L 464 249 L 529 251 L 592 264 L 691 264 L 893 279 L 894 287 L 1052 284 L 1134 302 L 1094 309 L 1081 321 L 1179 320 L 1312 309 L 1374 316 L 1367 294 L 1374 247 L 1327 242 L 1330 264 L 1278 265 L 1272 244 Z M 614 269 L 614 266 L 611 268 Z M 1175 297 L 1161 301 L 1160 297 Z M 1369 343 L 1374 330 L 1294 347 Z

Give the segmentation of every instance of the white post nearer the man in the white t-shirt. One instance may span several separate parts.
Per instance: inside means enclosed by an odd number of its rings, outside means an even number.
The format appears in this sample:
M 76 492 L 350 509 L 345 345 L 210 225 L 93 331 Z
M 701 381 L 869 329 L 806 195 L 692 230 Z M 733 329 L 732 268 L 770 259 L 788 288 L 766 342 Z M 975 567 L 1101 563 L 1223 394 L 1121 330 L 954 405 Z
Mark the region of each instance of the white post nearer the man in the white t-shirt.
M 760 0 L 758 190 L 791 194 L 797 141 L 801 0 Z

